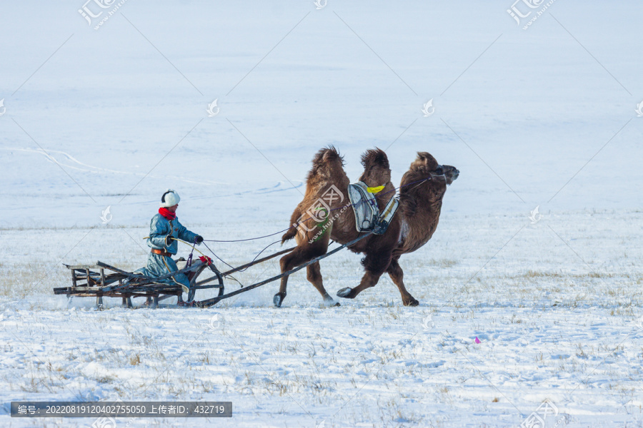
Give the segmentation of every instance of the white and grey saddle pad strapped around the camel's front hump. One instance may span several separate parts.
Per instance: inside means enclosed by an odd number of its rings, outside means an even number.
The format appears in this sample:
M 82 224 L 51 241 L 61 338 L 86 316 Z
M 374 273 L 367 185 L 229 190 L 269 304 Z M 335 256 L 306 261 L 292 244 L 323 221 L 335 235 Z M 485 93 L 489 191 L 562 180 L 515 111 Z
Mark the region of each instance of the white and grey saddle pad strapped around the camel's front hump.
M 368 186 L 363 181 L 349 184 L 348 193 L 355 214 L 357 231 L 370 232 L 374 230 L 376 235 L 386 232 L 397 211 L 399 201 L 396 198 L 391 198 L 380 213 L 374 193 L 369 192 Z

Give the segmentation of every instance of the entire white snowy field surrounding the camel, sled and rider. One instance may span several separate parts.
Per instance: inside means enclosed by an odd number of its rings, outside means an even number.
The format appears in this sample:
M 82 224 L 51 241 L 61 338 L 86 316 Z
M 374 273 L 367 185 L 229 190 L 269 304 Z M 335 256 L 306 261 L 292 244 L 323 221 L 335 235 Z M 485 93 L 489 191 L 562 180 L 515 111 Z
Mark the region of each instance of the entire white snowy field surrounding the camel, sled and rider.
M 544 427 L 643 426 L 639 2 L 98 3 L 0 6 L 0 426 L 116 398 L 234 406 L 116 427 L 519 427 L 544 400 Z M 203 310 L 53 295 L 62 263 L 144 265 L 166 188 L 206 239 L 283 230 L 329 144 L 352 180 L 376 146 L 396 184 L 417 151 L 460 170 L 400 262 L 419 307 L 387 276 L 322 307 L 304 272 L 279 309 L 276 283 Z M 332 295 L 359 259 L 321 263 Z

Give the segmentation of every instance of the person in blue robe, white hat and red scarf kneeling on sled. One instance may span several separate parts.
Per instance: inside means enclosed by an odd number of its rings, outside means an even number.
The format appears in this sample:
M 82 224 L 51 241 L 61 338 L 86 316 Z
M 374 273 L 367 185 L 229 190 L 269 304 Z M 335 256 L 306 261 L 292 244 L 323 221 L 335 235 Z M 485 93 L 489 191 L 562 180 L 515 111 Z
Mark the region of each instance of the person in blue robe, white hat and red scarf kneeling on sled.
M 135 273 L 142 273 L 147 277 L 160 277 L 170 272 L 176 272 L 179 268 L 176 267 L 176 262 L 172 259 L 179 247 L 176 239 L 197 245 L 203 242 L 201 235 L 187 230 L 176 218 L 179 200 L 181 200 L 179 194 L 171 189 L 166 190 L 161 196 L 159 213 L 152 217 L 149 224 L 147 245 L 151 247 L 151 253 L 147 258 L 147 266 L 141 267 Z M 184 273 L 178 273 L 159 282 L 181 285 L 184 292 L 189 293 L 190 291 L 190 281 Z M 180 298 L 179 301 L 181 301 Z

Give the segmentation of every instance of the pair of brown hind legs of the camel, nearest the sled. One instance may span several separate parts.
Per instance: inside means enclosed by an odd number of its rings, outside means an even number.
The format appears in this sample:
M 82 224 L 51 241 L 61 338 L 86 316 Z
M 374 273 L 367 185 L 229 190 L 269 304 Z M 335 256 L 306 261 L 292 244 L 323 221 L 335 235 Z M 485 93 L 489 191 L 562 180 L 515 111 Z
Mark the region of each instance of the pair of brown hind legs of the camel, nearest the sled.
M 325 233 L 324 235 L 321 236 L 321 239 L 314 241 L 313 243 L 309 243 L 309 238 L 307 235 L 304 235 L 303 237 L 301 234 L 297 234 L 296 240 L 297 240 L 297 247 L 291 251 L 291 253 L 288 253 L 284 255 L 284 257 L 279 260 L 279 265 L 281 267 L 281 273 L 288 272 L 294 267 L 297 267 L 299 265 L 303 265 L 304 263 L 319 257 L 320 255 L 326 254 L 326 251 L 328 250 L 328 241 L 329 241 L 329 236 L 330 233 Z M 311 267 L 317 265 L 316 271 L 313 270 L 311 274 Z M 313 279 L 311 279 L 313 278 Z M 324 297 L 324 300 L 327 300 L 328 293 L 326 290 L 324 290 L 324 286 L 321 285 L 321 272 L 319 272 L 319 263 L 313 263 L 312 265 L 308 266 L 308 280 L 312 282 L 312 285 L 316 287 L 317 290 L 321 293 L 321 295 Z M 276 307 L 281 306 L 281 302 L 284 301 L 286 298 L 286 288 L 288 287 L 288 276 L 284 276 L 281 278 L 281 285 L 279 285 L 279 292 L 274 295 L 273 302 Z M 332 297 L 331 297 L 332 300 Z

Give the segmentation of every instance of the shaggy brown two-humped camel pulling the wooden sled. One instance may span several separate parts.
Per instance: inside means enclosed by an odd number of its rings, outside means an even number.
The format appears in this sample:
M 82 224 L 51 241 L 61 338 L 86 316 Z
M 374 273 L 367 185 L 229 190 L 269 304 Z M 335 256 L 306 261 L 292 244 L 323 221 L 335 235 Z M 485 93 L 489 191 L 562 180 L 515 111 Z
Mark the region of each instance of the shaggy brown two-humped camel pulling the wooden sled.
M 345 244 L 364 232 L 357 232 L 354 214 L 347 198 L 349 178 L 344 172 L 344 158 L 332 146 L 322 148 L 313 158 L 306 177 L 306 193 L 291 215 L 293 227 L 281 237 L 281 243 L 296 238 L 297 246 L 279 260 L 281 272 L 308 262 L 327 252 L 329 240 Z M 391 170 L 387 154 L 379 148 L 362 155 L 364 173 L 359 177 L 369 187 L 384 186 L 377 193 L 379 210 L 393 198 Z M 364 276 L 357 287 L 345 287 L 338 297 L 352 299 L 369 287 L 374 287 L 384 272 L 397 285 L 405 306 L 419 305 L 404 286 L 404 272 L 398 260 L 402 254 L 412 253 L 431 239 L 439 220 L 442 198 L 447 185 L 453 183 L 459 170 L 451 165 L 439 165 L 427 152 L 418 152 L 416 160 L 402 177 L 399 189 L 399 209 L 383 235 L 369 235 L 349 247 L 354 253 L 364 254 Z M 296 227 L 295 227 L 296 226 Z M 324 289 L 319 262 L 306 267 L 307 279 L 319 291 L 324 304 L 339 306 L 339 302 Z M 288 276 L 281 278 L 274 305 L 280 307 L 286 297 Z

